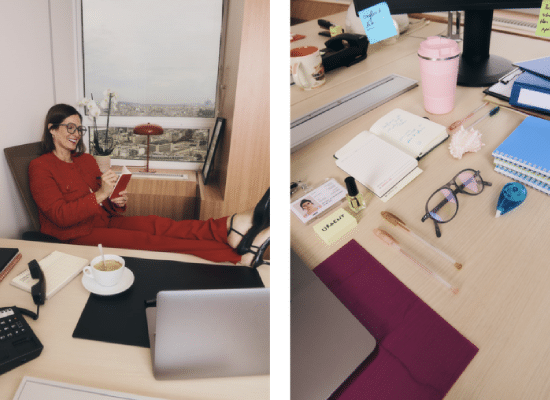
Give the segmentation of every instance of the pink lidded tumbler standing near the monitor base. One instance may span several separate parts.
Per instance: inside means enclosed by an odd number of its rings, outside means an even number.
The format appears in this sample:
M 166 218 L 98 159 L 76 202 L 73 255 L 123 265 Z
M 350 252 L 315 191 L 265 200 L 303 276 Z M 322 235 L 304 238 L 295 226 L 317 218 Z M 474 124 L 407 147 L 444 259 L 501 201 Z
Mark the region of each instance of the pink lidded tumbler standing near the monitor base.
M 458 76 L 458 43 L 430 36 L 418 50 L 424 108 L 432 114 L 446 114 L 454 107 Z

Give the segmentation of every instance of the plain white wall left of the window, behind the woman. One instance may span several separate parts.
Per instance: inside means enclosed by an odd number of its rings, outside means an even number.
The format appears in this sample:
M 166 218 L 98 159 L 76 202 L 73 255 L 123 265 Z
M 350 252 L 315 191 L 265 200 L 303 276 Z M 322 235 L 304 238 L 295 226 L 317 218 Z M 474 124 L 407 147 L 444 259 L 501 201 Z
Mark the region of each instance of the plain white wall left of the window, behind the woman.
M 73 29 L 73 0 L 52 3 L 51 14 L 49 0 L 0 2 L 0 237 L 20 238 L 31 228 L 3 149 L 39 141 L 48 109 L 61 101 L 75 104 L 77 99 L 74 35 L 66 34 Z M 60 60 L 55 80 L 50 14 Z

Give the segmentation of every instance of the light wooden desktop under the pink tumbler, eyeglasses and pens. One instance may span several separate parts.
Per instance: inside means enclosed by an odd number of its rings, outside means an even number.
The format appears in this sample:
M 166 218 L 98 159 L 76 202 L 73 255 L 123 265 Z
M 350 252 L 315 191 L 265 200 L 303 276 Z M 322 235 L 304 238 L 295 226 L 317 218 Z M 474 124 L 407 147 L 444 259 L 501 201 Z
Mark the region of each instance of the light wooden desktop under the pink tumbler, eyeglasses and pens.
M 328 19 L 342 24 L 345 13 Z M 293 26 L 293 33 L 307 37 L 292 43 L 292 47 L 306 44 L 324 47 L 315 25 L 316 21 L 310 21 Z M 390 73 L 420 81 L 416 55 L 419 44 L 427 36 L 444 31 L 445 25 L 430 23 L 409 36 L 401 36 L 396 44 L 369 46 L 366 60 L 329 72 L 326 84 L 319 89 L 306 92 L 292 87 L 291 120 Z M 550 54 L 550 43 L 493 32 L 491 53 L 513 62 L 534 59 Z M 291 155 L 291 179 L 315 185 L 332 177 L 343 184 L 346 174 L 336 167 L 333 153 L 392 109 L 402 108 L 448 126 L 480 105 L 484 96 L 480 88 L 458 87 L 455 109 L 451 113 L 429 115 L 423 109 L 421 93 L 420 83 L 420 87 L 296 151 Z M 485 108 L 485 112 L 488 110 L 489 107 Z M 358 218 L 358 227 L 332 246 L 324 245 L 311 225 L 291 217 L 291 246 L 310 268 L 315 268 L 353 238 L 479 347 L 478 354 L 446 399 L 550 398 L 550 268 L 547 261 L 550 197 L 528 187 L 527 200 L 521 208 L 495 218 L 498 195 L 510 180 L 494 172 L 491 152 L 523 118 L 502 109 L 494 118 L 480 123 L 477 128 L 483 133 L 485 146 L 461 160 L 449 154 L 448 142 L 436 148 L 420 160 L 419 167 L 424 172 L 387 203 L 369 196 L 367 208 Z M 436 238 L 433 223 L 420 221 L 426 200 L 465 168 L 480 170 L 493 186 L 479 196 L 459 195 L 457 216 L 440 226 L 442 237 Z M 367 193 L 363 187 L 360 190 Z M 463 263 L 462 270 L 456 270 L 450 262 L 385 222 L 380 216 L 384 210 L 402 218 L 419 236 Z M 413 256 L 458 286 L 460 292 L 452 295 L 427 277 L 399 252 L 380 242 L 372 233 L 374 228 L 386 229 L 404 249 L 411 250 Z

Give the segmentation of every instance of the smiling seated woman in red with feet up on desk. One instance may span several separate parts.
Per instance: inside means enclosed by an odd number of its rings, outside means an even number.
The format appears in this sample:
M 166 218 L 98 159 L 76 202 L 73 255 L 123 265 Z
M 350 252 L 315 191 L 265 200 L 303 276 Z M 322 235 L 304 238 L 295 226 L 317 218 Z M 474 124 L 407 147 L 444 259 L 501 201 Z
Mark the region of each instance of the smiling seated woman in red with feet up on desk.
M 40 230 L 63 242 L 193 254 L 257 267 L 269 245 L 269 189 L 254 210 L 207 221 L 125 217 L 128 195 L 109 199 L 117 175 L 85 153 L 82 116 L 57 104 L 46 116 L 43 154 L 29 166 Z M 242 232 L 245 232 L 244 234 Z

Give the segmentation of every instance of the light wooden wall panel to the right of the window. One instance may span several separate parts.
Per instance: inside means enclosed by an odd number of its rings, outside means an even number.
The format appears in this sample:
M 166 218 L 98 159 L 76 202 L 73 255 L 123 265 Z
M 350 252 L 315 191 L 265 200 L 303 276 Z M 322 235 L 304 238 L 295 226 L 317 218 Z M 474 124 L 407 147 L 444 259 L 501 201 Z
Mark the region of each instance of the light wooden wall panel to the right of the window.
M 214 183 L 201 186 L 201 219 L 252 208 L 269 187 L 269 2 L 244 0 L 240 39 L 238 58 L 227 54 L 220 116 L 228 124 Z

